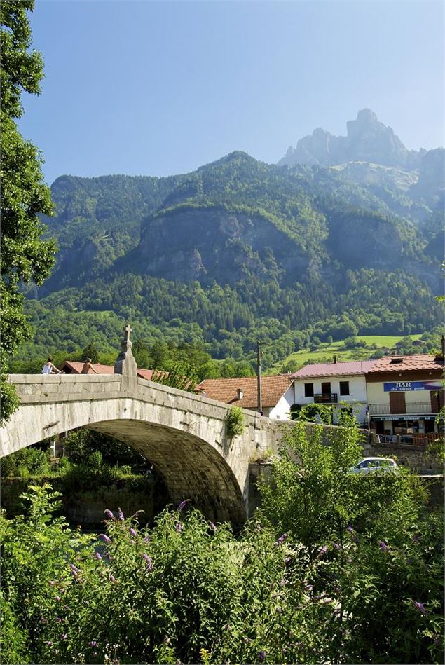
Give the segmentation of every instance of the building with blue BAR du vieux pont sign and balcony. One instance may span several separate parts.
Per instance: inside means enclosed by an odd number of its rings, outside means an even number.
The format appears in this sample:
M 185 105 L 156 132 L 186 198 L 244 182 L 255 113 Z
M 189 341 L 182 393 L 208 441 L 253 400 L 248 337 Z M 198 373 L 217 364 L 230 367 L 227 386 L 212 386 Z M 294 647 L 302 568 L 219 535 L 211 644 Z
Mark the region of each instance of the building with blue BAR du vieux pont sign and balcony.
M 436 438 L 443 375 L 443 354 L 378 359 L 365 373 L 371 427 L 379 435 L 399 435 L 405 443 Z

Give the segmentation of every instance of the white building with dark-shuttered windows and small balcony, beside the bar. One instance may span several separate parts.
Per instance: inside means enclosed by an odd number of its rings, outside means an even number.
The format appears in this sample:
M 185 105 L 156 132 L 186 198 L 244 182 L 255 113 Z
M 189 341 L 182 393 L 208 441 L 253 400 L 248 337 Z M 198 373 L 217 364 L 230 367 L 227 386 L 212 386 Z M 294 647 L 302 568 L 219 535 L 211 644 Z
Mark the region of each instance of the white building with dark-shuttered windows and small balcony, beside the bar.
M 294 404 L 350 405 L 361 424 L 366 423 L 367 384 L 364 378 L 376 360 L 354 360 L 305 365 L 290 376 L 294 381 Z

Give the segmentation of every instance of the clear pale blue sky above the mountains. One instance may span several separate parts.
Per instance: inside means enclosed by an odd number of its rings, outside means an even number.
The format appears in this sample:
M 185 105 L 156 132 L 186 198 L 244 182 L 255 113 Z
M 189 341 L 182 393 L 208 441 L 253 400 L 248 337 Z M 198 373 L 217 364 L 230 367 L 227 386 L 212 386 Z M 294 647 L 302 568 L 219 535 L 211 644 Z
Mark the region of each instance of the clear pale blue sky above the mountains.
M 364 107 L 409 148 L 444 144 L 441 1 L 36 0 L 42 95 L 20 130 L 62 174 L 268 163 Z

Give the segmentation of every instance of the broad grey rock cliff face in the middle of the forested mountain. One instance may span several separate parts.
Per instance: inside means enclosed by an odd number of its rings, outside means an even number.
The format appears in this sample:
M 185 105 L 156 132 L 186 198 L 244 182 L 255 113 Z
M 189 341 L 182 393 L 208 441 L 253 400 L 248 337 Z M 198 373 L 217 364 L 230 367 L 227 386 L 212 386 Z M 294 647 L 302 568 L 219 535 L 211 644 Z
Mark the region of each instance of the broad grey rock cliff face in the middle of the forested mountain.
M 308 257 L 288 235 L 261 215 L 211 207 L 179 209 L 148 219 L 139 246 L 125 266 L 166 280 L 235 284 L 247 273 L 267 277 L 308 268 Z

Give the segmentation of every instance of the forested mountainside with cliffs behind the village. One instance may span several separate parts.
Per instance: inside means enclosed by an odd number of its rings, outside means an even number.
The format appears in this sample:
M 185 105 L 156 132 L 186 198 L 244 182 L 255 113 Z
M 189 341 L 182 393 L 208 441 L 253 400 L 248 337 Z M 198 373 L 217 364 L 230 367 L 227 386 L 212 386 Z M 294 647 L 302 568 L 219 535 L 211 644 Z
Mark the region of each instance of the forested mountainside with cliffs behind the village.
M 60 255 L 28 294 L 36 335 L 22 357 L 118 348 L 124 319 L 148 343 L 220 358 L 252 357 L 260 338 L 266 365 L 310 337 L 431 329 L 438 194 L 414 197 L 419 179 L 394 172 L 359 184 L 351 169 L 235 152 L 169 178 L 57 179 L 46 221 Z

